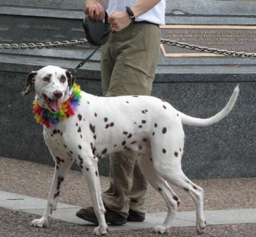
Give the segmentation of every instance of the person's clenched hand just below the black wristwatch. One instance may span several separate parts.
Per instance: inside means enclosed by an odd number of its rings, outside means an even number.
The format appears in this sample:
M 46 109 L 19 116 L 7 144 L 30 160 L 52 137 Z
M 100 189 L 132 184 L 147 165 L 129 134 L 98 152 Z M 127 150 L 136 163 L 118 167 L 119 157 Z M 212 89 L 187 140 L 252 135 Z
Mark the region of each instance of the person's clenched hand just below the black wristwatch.
M 108 17 L 111 31 L 122 31 L 131 24 L 132 19 L 129 17 L 126 11 L 113 12 Z

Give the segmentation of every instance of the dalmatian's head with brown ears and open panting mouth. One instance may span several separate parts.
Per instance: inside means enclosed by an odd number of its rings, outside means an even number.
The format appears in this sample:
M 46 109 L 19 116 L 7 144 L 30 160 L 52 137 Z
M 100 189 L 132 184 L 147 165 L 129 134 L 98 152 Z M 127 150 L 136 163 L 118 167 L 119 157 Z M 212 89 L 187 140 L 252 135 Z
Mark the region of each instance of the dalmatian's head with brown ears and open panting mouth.
M 61 110 L 61 102 L 65 102 L 72 94 L 72 86 L 76 78 L 58 66 L 45 66 L 37 72 L 28 73 L 22 95 L 28 95 L 35 87 L 36 100 L 41 107 L 51 112 Z

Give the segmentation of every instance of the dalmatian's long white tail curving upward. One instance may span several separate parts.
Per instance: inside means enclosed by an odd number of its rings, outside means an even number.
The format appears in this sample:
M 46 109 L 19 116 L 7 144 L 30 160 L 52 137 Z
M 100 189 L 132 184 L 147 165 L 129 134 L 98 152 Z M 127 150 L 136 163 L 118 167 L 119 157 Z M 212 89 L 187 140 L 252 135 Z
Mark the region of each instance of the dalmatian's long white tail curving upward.
M 239 85 L 236 86 L 234 89 L 232 96 L 228 100 L 227 105 L 220 111 L 218 114 L 215 114 L 211 118 L 207 119 L 200 119 L 200 118 L 193 118 L 191 116 L 188 116 L 186 114 L 183 114 L 182 112 L 179 112 L 179 116 L 181 118 L 181 122 L 184 125 L 191 125 L 191 126 L 209 126 L 213 125 L 214 123 L 218 123 L 221 121 L 221 119 L 225 118 L 229 112 L 233 109 L 237 96 L 239 94 Z

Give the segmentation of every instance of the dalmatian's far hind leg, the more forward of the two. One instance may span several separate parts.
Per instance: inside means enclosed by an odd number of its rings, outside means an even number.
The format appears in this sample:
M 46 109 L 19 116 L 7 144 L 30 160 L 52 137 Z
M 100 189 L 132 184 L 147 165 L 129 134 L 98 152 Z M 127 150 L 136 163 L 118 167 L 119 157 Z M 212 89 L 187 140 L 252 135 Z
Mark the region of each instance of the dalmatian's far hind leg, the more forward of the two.
M 152 159 L 144 155 L 140 155 L 140 169 L 148 182 L 154 187 L 164 198 L 168 207 L 168 213 L 163 225 L 155 226 L 154 231 L 163 234 L 172 225 L 172 220 L 180 204 L 179 197 L 175 194 L 168 183 L 154 169 Z

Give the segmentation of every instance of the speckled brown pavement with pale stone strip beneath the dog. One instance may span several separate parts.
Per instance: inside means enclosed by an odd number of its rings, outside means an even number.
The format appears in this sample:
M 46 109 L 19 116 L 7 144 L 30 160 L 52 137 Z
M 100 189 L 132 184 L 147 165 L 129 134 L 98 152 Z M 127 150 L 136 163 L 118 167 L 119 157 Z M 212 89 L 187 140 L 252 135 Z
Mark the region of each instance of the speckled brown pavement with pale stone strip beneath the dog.
M 1 157 L 0 167 L 0 236 L 92 236 L 94 226 L 74 215 L 91 204 L 81 172 L 70 171 L 50 226 L 40 229 L 29 224 L 44 211 L 53 167 Z M 108 179 L 100 177 L 100 181 L 106 189 Z M 256 178 L 193 181 L 205 190 L 203 236 L 256 236 Z M 196 236 L 195 204 L 182 190 L 174 189 L 181 204 L 165 236 Z M 161 236 L 152 233 L 152 227 L 163 222 L 166 204 L 152 188 L 146 200 L 145 222 L 110 227 L 108 236 Z

